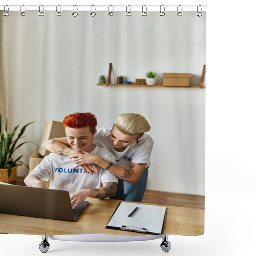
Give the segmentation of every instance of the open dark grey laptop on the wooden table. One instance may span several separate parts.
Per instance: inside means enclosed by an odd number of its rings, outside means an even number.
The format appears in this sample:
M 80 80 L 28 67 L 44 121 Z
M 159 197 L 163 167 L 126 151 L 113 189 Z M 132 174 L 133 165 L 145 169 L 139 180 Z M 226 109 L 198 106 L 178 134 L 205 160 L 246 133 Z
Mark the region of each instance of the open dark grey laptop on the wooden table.
M 0 184 L 0 212 L 28 217 L 75 221 L 88 201 L 72 210 L 66 190 Z

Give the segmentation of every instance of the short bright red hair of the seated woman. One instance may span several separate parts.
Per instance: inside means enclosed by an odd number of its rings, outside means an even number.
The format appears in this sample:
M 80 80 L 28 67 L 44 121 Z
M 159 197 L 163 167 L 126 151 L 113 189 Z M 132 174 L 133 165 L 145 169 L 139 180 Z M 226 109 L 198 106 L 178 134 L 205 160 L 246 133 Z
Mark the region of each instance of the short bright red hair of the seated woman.
M 96 130 L 97 119 L 96 117 L 90 113 L 74 113 L 66 116 L 63 119 L 63 125 L 70 128 L 80 128 L 80 127 L 90 127 L 90 131 L 92 134 Z

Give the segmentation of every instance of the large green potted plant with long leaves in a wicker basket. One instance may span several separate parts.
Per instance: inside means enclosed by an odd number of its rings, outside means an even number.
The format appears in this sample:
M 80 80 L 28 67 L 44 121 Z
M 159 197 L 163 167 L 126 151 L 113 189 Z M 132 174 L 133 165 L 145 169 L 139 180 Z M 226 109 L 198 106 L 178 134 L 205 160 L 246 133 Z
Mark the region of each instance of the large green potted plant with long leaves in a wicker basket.
M 23 164 L 23 162 L 20 161 L 20 158 L 23 155 L 19 156 L 16 159 L 13 159 L 12 154 L 15 152 L 17 148 L 20 148 L 23 144 L 27 142 L 32 142 L 32 141 L 27 141 L 17 145 L 17 142 L 24 137 L 24 136 L 22 137 L 22 135 L 25 132 L 26 127 L 32 123 L 34 122 L 28 123 L 25 126 L 23 126 L 17 138 L 14 139 L 14 136 L 15 136 L 16 130 L 19 127 L 19 124 L 16 127 L 14 127 L 12 133 L 7 133 L 7 127 L 8 127 L 7 118 L 6 118 L 5 125 L 3 124 L 3 127 L 2 127 L 2 115 L 0 115 L 0 134 L 1 134 L 0 136 L 0 181 L 5 183 L 7 182 L 12 183 L 16 180 L 17 166 L 25 165 L 28 167 L 28 165 Z M 35 143 L 35 142 L 32 142 L 32 143 Z

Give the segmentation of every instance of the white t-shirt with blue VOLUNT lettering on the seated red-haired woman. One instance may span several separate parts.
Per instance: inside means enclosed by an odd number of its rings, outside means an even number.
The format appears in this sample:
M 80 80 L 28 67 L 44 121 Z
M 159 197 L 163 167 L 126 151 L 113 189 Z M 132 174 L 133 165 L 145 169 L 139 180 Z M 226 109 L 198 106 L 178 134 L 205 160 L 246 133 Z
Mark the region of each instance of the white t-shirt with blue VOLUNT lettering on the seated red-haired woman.
M 91 152 L 110 162 L 115 163 L 115 157 L 106 149 L 96 146 Z M 116 182 L 117 178 L 105 169 L 98 166 L 98 174 L 85 173 L 81 166 L 77 165 L 68 156 L 61 156 L 51 153 L 45 156 L 30 174 L 42 180 L 50 180 L 50 188 L 67 190 L 69 193 L 76 192 L 84 188 L 100 188 L 101 183 Z

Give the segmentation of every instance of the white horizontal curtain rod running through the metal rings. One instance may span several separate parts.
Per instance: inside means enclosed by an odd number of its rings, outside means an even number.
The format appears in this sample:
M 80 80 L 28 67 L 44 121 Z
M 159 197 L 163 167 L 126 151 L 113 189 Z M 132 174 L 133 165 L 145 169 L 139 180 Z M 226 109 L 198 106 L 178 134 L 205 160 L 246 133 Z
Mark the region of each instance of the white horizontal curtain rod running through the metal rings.
M 161 11 L 206 11 L 206 5 L 161 5 Z M 181 9 L 182 8 L 182 9 Z M 197 9 L 199 8 L 199 9 Z M 6 5 L 5 11 L 20 11 L 20 5 Z M 142 5 L 75 5 L 76 11 L 142 11 Z M 0 10 L 4 10 L 4 5 L 0 5 Z M 22 10 L 25 11 L 38 11 L 39 5 L 22 5 Z M 41 5 L 41 10 L 44 11 L 56 11 L 56 5 Z M 60 11 L 72 11 L 73 5 L 58 5 Z M 143 5 L 143 11 L 160 11 L 160 5 Z

